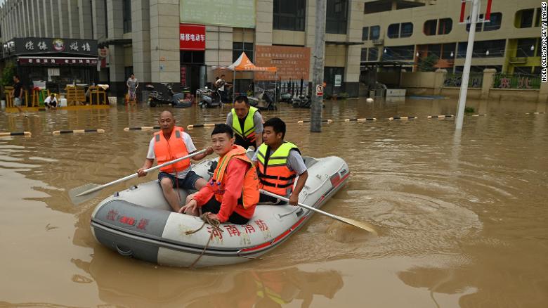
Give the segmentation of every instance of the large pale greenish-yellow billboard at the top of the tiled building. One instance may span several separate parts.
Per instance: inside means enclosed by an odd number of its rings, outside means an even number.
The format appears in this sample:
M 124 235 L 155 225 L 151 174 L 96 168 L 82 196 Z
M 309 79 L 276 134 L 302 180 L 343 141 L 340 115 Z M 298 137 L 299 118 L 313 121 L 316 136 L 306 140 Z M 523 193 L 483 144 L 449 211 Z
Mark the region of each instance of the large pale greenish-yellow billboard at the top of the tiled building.
M 255 0 L 180 0 L 181 23 L 254 28 Z

